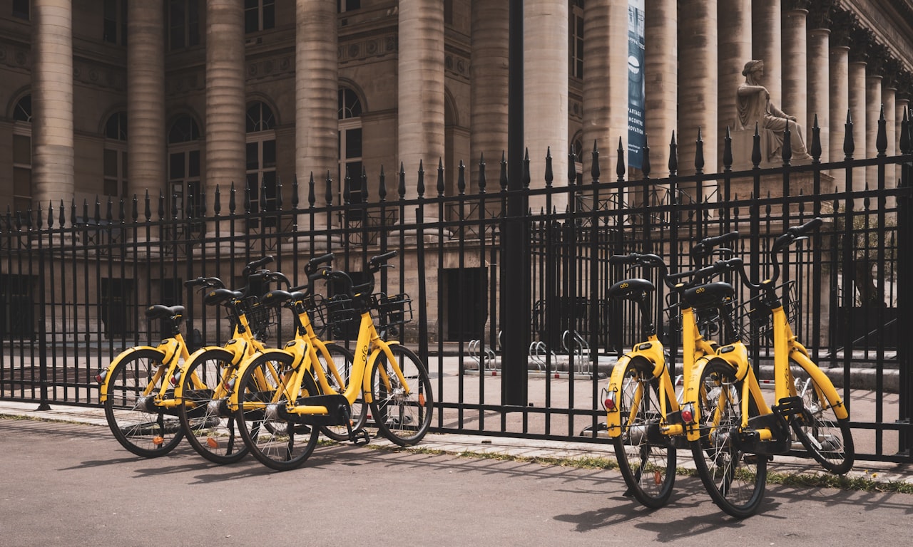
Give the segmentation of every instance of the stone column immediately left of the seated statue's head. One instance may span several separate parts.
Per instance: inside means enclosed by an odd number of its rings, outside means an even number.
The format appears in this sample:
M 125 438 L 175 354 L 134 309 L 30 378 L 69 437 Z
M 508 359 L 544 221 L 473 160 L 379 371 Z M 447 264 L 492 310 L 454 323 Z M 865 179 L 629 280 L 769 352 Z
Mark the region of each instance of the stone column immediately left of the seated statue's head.
M 742 69 L 751 59 L 751 2 L 732 0 L 717 6 L 719 16 L 719 130 L 740 129 L 739 110 L 736 107 L 738 89 L 745 82 Z M 766 63 L 765 63 L 766 64 Z M 723 139 L 714 143 L 722 158 Z M 746 153 L 750 156 L 750 151 Z M 722 168 L 720 164 L 719 168 Z

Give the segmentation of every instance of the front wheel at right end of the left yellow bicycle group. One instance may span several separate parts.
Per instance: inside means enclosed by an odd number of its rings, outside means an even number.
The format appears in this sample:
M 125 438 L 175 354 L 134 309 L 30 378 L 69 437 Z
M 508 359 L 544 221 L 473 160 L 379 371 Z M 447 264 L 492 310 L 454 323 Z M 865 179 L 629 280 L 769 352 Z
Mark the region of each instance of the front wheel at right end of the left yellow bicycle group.
M 421 359 L 411 350 L 398 344 L 391 345 L 390 350 L 395 362 L 382 352 L 374 364 L 371 412 L 384 437 L 402 447 L 410 446 L 422 440 L 431 426 L 431 379 Z M 396 376 L 396 366 L 408 385 L 408 395 Z

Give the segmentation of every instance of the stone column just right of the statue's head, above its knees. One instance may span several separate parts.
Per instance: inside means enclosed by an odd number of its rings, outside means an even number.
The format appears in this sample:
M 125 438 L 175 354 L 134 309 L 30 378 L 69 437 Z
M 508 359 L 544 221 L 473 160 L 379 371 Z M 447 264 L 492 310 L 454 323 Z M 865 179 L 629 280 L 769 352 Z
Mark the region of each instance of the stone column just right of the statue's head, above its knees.
M 793 9 L 783 13 L 782 18 L 782 110 L 790 116 L 795 116 L 799 125 L 809 135 L 808 104 L 807 104 L 807 71 L 808 71 L 808 42 L 805 22 L 808 11 Z M 765 63 L 766 75 L 766 63 Z

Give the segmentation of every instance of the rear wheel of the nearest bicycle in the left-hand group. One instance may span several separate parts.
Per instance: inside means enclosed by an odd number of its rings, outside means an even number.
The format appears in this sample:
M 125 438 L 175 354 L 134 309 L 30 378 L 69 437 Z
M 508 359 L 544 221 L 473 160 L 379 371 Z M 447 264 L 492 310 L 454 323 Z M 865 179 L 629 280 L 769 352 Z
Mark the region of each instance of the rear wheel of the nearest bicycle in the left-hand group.
M 244 369 L 237 383 L 237 428 L 251 454 L 270 469 L 285 471 L 300 467 L 310 457 L 318 428 L 298 423 L 297 416 L 283 412 L 289 400 L 318 395 L 310 371 L 300 386 L 287 386 L 293 374 L 294 356 L 271 352 L 258 356 Z

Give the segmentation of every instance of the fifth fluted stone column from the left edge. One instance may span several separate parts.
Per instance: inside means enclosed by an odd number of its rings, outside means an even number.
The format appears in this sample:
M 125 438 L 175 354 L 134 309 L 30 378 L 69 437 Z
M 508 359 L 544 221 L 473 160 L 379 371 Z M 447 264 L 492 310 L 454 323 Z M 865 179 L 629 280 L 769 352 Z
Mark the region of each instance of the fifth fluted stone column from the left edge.
M 444 159 L 442 2 L 400 0 L 398 68 L 398 154 L 406 173 L 406 198 L 415 198 L 419 161 L 424 162 L 425 173 L 433 175 L 437 162 Z M 426 188 L 434 188 L 427 181 L 425 184 Z M 426 209 L 426 220 L 436 218 L 437 212 L 432 209 Z

